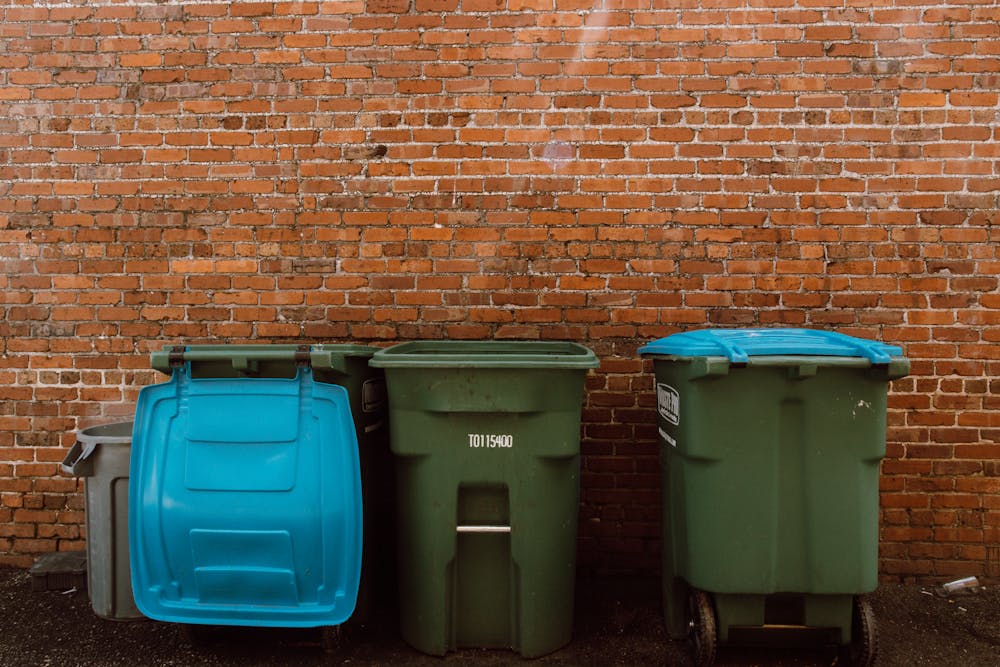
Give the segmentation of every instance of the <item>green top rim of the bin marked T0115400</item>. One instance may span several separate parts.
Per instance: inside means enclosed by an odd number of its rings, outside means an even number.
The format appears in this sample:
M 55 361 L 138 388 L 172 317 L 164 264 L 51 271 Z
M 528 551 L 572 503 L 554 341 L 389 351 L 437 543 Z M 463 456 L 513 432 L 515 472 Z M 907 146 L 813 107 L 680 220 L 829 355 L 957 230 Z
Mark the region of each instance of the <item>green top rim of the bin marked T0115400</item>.
M 376 368 L 597 368 L 592 350 L 557 341 L 410 341 L 379 350 Z

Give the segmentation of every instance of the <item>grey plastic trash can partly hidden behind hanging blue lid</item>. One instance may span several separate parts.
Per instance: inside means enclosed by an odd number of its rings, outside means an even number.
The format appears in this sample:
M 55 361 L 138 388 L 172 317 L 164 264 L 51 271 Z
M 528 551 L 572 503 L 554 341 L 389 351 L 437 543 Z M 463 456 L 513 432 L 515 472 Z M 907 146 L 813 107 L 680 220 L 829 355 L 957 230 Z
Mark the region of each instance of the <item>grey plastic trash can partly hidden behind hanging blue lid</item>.
M 87 593 L 102 618 L 142 618 L 132 597 L 128 549 L 128 475 L 132 422 L 92 426 L 76 436 L 62 463 L 84 478 Z

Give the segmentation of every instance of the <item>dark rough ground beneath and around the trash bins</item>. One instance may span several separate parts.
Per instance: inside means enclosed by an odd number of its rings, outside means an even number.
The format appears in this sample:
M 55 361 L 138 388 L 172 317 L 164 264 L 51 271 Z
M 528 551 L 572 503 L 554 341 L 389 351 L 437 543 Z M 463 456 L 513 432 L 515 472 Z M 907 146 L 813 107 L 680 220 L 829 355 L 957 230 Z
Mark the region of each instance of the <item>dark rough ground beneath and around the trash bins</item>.
M 951 598 L 932 587 L 884 584 L 872 595 L 883 667 L 1000 665 L 1000 587 Z M 209 628 L 197 641 L 153 621 L 106 621 L 85 591 L 33 592 L 26 570 L 0 568 L 0 665 L 3 667 L 136 667 L 141 665 L 686 665 L 680 642 L 663 629 L 656 580 L 581 581 L 572 643 L 543 658 L 510 651 L 465 650 L 445 658 L 403 643 L 392 614 L 344 628 L 341 645 L 324 651 L 316 630 Z M 833 647 L 723 648 L 718 665 L 843 665 Z

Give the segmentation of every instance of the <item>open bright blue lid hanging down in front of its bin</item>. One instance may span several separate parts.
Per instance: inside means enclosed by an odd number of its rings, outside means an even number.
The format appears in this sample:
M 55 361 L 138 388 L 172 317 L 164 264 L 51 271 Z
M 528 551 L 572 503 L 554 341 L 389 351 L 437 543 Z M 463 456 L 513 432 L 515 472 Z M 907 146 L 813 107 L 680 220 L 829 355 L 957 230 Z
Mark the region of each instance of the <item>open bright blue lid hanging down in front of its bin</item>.
M 354 612 L 357 436 L 347 391 L 295 378 L 143 388 L 129 484 L 136 605 L 175 623 L 314 627 Z

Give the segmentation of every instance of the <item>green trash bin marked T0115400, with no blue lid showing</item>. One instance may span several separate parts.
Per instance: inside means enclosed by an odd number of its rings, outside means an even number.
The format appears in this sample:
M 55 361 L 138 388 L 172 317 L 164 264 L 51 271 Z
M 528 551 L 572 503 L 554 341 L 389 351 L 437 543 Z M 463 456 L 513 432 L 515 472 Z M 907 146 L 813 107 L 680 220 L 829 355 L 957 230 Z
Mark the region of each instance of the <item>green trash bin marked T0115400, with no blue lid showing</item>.
M 415 648 L 570 641 L 580 411 L 594 353 L 562 342 L 409 342 L 385 369 L 400 627 Z

